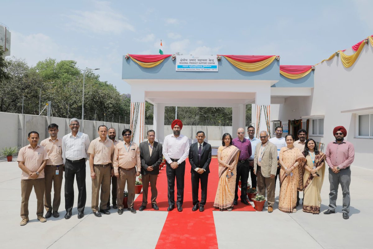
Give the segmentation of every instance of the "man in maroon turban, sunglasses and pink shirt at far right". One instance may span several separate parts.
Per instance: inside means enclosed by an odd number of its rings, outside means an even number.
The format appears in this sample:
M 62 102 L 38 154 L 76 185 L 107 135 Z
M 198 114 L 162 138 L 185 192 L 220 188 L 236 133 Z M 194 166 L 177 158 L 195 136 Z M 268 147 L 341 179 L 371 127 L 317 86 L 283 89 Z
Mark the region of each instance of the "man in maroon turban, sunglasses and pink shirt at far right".
M 352 143 L 346 141 L 347 130 L 343 126 L 337 126 L 333 130 L 335 141 L 328 143 L 326 147 L 326 162 L 329 165 L 329 209 L 324 214 L 334 214 L 337 207 L 336 200 L 338 187 L 342 188 L 342 217 L 347 220 L 350 212 L 350 183 L 351 164 L 354 161 L 355 150 Z

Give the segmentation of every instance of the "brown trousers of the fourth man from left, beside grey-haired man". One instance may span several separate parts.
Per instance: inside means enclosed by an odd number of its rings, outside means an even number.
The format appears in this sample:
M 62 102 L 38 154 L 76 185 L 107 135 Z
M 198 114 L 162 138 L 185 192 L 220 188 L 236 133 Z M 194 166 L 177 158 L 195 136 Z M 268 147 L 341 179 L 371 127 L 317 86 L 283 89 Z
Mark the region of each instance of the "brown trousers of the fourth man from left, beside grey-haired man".
M 110 177 L 112 168 L 110 164 L 106 167 L 94 165 L 96 179 L 92 179 L 92 211 L 97 212 L 100 209 L 107 208 L 107 200 L 110 194 Z M 100 194 L 100 209 L 98 208 L 98 194 Z

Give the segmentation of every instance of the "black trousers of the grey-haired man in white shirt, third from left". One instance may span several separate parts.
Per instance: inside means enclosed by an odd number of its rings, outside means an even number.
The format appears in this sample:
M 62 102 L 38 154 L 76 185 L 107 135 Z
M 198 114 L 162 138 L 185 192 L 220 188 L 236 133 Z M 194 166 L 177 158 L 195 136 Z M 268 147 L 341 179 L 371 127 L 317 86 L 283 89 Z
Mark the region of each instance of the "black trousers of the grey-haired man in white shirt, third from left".
M 65 209 L 71 212 L 74 205 L 74 177 L 78 185 L 78 211 L 84 212 L 87 191 L 85 189 L 85 159 L 81 161 L 65 162 Z

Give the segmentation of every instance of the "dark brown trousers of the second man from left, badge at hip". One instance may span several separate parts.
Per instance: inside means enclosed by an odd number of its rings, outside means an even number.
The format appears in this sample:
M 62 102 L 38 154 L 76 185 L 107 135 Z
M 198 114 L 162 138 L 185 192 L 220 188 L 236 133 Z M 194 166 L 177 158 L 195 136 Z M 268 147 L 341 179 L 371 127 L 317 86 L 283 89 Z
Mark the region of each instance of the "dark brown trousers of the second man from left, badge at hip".
M 58 175 L 56 174 L 58 170 Z M 44 168 L 44 179 L 45 179 L 45 192 L 44 192 L 44 207 L 48 211 L 58 211 L 61 203 L 61 188 L 63 178 L 63 166 L 46 166 Z M 51 200 L 53 182 L 53 206 Z

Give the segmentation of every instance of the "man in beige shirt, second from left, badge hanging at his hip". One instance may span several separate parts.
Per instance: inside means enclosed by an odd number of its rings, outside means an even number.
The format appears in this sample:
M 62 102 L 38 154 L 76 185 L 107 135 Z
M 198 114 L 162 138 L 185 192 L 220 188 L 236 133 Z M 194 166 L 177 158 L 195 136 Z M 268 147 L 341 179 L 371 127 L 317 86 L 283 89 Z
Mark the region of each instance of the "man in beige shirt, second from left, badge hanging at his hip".
M 44 192 L 44 207 L 46 208 L 46 218 L 50 218 L 53 211 L 53 217 L 60 216 L 58 208 L 61 203 L 61 187 L 63 178 L 63 159 L 62 159 L 62 139 L 57 137 L 58 125 L 48 125 L 48 133 L 50 137 L 41 141 L 40 145 L 47 150 L 48 161 L 44 168 L 45 176 L 45 192 Z M 53 183 L 53 205 L 51 201 Z

